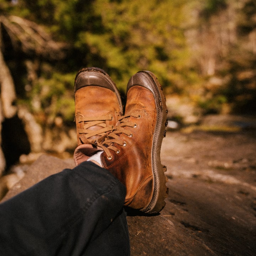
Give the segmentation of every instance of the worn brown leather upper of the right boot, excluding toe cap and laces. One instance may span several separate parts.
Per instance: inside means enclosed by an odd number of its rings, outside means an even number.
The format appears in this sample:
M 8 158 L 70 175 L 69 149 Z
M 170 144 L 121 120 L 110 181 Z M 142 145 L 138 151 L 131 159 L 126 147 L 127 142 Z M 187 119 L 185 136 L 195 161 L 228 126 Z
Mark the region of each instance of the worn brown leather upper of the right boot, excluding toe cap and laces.
M 126 146 L 115 146 L 119 154 L 113 151 L 113 158 L 108 160 L 102 154 L 102 162 L 106 169 L 115 175 L 127 187 L 125 205 L 135 209 L 148 205 L 153 193 L 153 177 L 151 148 L 156 122 L 156 107 L 153 93 L 142 87 L 133 86 L 127 93 L 125 115 L 139 114 L 141 117 L 129 117 L 128 121 L 137 127 L 126 127 L 133 137 L 121 134 L 120 140 Z

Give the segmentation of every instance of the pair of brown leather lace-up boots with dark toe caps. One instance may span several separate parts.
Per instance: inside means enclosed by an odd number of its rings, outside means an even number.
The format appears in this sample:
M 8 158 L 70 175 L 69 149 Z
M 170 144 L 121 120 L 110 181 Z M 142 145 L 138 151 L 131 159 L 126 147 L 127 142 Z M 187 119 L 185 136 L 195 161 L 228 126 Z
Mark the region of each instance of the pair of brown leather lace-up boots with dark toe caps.
M 75 164 L 103 151 L 102 166 L 126 186 L 124 205 L 159 212 L 168 195 L 166 167 L 160 162 L 166 116 L 165 96 L 150 71 L 140 71 L 129 80 L 123 114 L 110 76 L 99 68 L 80 70 L 75 78 Z

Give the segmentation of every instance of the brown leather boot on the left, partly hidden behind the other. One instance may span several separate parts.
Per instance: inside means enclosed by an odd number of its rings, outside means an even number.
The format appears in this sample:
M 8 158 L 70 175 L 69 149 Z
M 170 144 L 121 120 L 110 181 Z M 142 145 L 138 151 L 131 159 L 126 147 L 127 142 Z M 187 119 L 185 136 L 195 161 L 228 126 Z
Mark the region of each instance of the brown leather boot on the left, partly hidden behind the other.
M 123 110 L 116 85 L 102 69 L 81 69 L 76 74 L 74 93 L 78 139 L 74 160 L 78 165 L 98 150 L 92 142 L 105 139 Z

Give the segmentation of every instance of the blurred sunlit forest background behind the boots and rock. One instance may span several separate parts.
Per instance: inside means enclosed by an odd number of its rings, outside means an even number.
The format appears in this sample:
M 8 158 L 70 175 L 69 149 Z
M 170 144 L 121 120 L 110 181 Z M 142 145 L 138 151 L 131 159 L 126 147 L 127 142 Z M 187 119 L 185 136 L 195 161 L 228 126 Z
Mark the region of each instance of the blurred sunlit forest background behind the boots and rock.
M 0 0 L 0 173 L 73 153 L 74 78 L 86 66 L 123 94 L 153 71 L 183 125 L 255 115 L 256 0 Z

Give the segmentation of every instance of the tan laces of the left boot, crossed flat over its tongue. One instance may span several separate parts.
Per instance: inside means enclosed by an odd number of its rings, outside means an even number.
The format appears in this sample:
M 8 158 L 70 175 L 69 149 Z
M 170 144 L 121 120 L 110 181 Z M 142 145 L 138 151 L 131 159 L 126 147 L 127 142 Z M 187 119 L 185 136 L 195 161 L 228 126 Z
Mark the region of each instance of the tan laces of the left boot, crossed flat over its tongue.
M 75 119 L 79 123 L 84 123 L 83 128 L 78 129 L 78 133 L 81 134 L 79 139 L 84 144 L 95 142 L 95 140 L 90 138 L 96 135 L 101 136 L 98 140 L 104 140 L 106 135 L 113 129 L 113 126 L 106 125 L 107 120 L 113 120 L 111 114 L 97 117 L 84 117 L 82 114 L 76 114 Z M 92 126 L 98 126 L 99 128 L 97 130 L 91 130 L 90 127 Z

